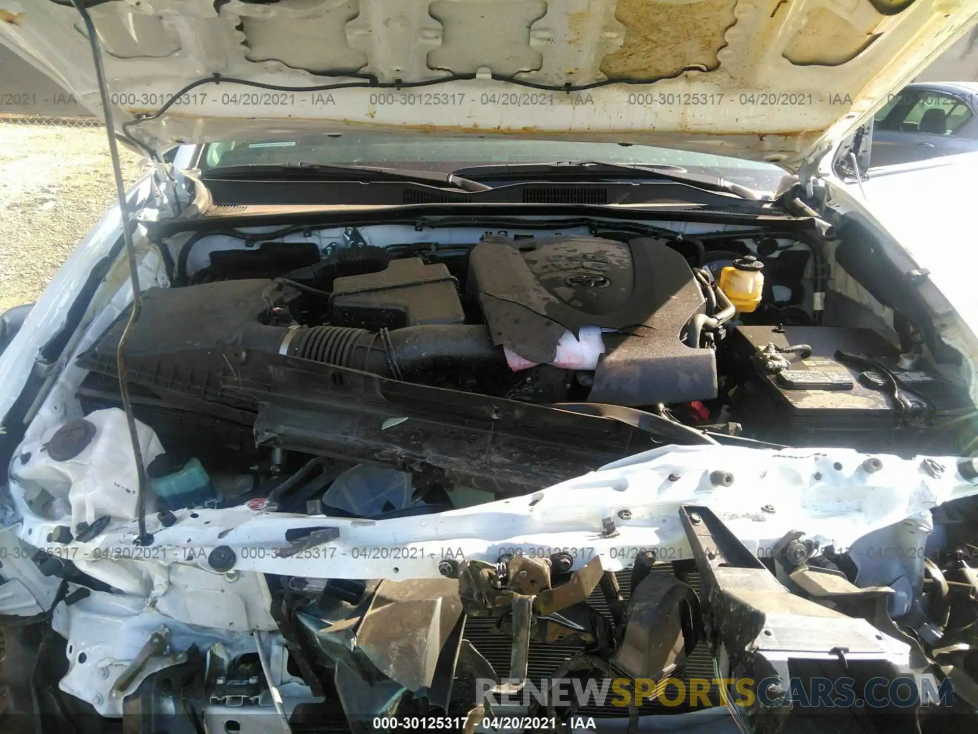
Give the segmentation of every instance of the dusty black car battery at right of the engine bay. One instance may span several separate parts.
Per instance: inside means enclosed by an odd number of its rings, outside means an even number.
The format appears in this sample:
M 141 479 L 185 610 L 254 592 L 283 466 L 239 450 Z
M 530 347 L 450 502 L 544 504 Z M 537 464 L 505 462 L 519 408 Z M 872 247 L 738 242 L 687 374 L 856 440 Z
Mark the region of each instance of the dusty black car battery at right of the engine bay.
M 728 340 L 739 386 L 732 411 L 753 437 L 793 445 L 847 446 L 906 453 L 953 449 L 952 419 L 974 408 L 962 384 L 925 368 L 899 367 L 900 351 L 869 329 L 829 326 L 737 326 Z M 783 369 L 765 366 L 777 347 Z M 782 351 L 806 345 L 808 350 Z M 770 348 L 770 347 L 768 347 Z M 842 351 L 878 364 L 854 366 Z M 888 374 L 887 374 L 888 373 Z M 889 376 L 928 405 L 929 425 L 907 427 Z M 960 422 L 956 422 L 959 424 Z

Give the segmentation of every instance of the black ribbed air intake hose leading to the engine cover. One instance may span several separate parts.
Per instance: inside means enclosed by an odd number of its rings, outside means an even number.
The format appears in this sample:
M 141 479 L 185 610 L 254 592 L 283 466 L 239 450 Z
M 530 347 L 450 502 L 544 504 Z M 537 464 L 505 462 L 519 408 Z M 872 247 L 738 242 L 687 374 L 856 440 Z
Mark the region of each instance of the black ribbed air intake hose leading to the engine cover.
M 427 324 L 379 333 L 342 326 L 292 329 L 279 351 L 404 379 L 441 370 L 481 372 L 506 367 L 503 349 L 492 343 L 489 328 L 468 324 Z

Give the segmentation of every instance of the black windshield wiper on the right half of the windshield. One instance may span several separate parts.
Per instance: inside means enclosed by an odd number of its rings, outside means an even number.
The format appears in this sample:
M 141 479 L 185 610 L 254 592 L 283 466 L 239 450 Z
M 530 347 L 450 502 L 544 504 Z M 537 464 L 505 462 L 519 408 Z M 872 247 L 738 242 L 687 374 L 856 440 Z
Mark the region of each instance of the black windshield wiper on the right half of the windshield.
M 452 171 L 454 175 L 480 181 L 515 180 L 533 178 L 575 179 L 595 181 L 604 179 L 631 179 L 643 181 L 671 181 L 695 186 L 706 191 L 734 194 L 742 199 L 759 200 L 753 189 L 741 186 L 719 176 L 689 173 L 686 168 L 667 163 L 607 163 L 602 161 L 553 161 L 549 163 L 500 163 L 472 165 Z

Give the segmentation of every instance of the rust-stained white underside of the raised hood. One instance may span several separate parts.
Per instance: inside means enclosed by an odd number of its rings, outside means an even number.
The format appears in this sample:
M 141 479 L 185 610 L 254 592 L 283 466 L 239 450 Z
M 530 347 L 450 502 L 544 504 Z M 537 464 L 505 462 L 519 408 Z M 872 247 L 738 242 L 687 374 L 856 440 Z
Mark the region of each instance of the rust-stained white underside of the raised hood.
M 645 143 L 789 169 L 849 133 L 976 12 L 964 0 L 86 5 L 117 123 L 215 74 L 259 84 L 202 83 L 126 126 L 156 150 L 372 129 Z M 101 110 L 67 0 L 0 0 L 0 20 L 0 40 Z

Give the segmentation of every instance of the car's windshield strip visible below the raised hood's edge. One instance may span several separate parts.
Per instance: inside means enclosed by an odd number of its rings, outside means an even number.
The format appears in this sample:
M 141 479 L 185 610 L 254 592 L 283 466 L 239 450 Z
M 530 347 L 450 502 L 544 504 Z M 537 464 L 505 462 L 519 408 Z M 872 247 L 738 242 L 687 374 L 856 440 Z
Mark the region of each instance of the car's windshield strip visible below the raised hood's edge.
M 785 175 L 771 163 L 645 145 L 387 133 L 326 133 L 284 140 L 210 143 L 200 168 L 329 163 L 450 173 L 472 165 L 551 161 L 679 166 L 689 173 L 719 176 L 761 192 L 773 192 Z

